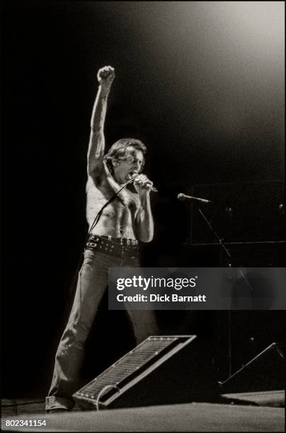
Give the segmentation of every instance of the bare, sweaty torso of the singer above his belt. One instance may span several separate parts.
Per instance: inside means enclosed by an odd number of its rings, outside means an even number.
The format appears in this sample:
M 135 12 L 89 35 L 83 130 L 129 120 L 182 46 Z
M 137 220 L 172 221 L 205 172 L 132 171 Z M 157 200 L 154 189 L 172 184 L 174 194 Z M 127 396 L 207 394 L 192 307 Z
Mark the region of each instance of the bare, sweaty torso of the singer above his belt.
M 120 185 L 118 185 L 118 190 Z M 103 205 L 114 195 L 112 187 L 104 174 L 101 178 L 88 178 L 86 184 L 86 219 L 91 229 L 94 219 Z M 136 219 L 140 210 L 136 192 L 125 188 L 118 197 L 108 204 L 91 233 L 113 238 L 137 239 Z

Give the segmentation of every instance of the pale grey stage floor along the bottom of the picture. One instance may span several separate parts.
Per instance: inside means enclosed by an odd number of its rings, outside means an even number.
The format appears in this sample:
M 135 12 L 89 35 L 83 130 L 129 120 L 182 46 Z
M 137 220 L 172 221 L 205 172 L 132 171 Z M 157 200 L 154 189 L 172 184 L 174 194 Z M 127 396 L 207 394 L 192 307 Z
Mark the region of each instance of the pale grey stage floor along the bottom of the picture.
M 283 391 L 279 398 L 282 398 Z M 234 396 L 234 395 L 232 395 Z M 2 431 L 21 432 L 283 432 L 285 408 L 243 403 L 184 403 L 47 415 L 44 402 L 2 400 Z M 269 395 L 268 395 L 269 397 Z M 274 394 L 271 396 L 273 400 Z M 229 396 L 227 397 L 229 398 Z M 251 393 L 253 400 L 253 393 Z M 278 398 L 278 400 L 279 400 Z M 269 398 L 263 396 L 263 400 Z M 276 401 L 278 401 L 276 400 Z M 32 400 L 30 400 L 32 402 Z M 245 403 L 246 402 L 246 403 Z M 10 404 L 8 404 L 10 403 Z M 278 403 L 277 405 L 280 405 Z M 35 424 L 45 420 L 45 426 Z M 25 421 L 28 426 L 23 425 Z M 21 427 L 21 424 L 23 425 Z M 30 426 L 33 425 L 33 426 Z

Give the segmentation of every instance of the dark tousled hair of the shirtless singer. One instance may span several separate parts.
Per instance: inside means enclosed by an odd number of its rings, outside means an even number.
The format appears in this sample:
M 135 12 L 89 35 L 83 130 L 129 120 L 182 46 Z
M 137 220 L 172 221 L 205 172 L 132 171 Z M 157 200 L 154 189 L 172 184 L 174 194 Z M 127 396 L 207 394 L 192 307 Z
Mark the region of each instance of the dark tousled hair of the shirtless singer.
M 145 163 L 145 154 L 147 151 L 147 147 L 144 143 L 140 142 L 138 139 L 132 139 L 132 138 L 125 138 L 120 139 L 117 142 L 115 142 L 109 149 L 108 153 L 105 154 L 103 157 L 103 161 L 106 162 L 106 165 L 108 166 L 110 173 L 113 173 L 113 163 L 112 161 L 120 161 L 124 160 L 127 151 L 129 150 L 128 147 L 132 146 L 137 151 L 142 151 L 143 154 L 143 163 L 142 168 L 144 167 Z

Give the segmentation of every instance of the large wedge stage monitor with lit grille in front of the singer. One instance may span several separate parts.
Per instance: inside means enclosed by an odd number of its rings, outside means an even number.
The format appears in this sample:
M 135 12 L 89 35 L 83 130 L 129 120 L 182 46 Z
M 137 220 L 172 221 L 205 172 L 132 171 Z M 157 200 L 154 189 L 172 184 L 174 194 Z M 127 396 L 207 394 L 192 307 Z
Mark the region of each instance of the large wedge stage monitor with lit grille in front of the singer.
M 86 410 L 212 401 L 210 349 L 196 335 L 150 336 L 73 397 Z

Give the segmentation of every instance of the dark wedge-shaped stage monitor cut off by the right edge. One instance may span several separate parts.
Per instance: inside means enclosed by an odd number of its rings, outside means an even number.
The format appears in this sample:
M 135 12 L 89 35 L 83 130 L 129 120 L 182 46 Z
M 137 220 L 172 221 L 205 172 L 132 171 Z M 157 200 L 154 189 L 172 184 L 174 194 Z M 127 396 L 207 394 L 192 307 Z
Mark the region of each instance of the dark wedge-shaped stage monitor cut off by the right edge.
M 285 389 L 284 354 L 273 342 L 219 387 L 220 394 Z

